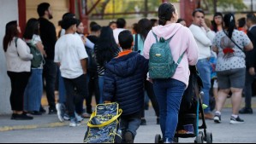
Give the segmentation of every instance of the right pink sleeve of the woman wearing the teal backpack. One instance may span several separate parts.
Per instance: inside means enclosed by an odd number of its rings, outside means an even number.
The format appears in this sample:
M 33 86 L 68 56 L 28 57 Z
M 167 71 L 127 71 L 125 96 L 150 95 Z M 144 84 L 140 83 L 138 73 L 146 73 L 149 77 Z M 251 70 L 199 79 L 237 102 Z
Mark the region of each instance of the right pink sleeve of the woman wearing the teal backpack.
M 198 45 L 195 42 L 192 32 L 188 30 L 186 32 L 186 35 L 188 35 L 188 49 L 187 49 L 188 63 L 190 66 L 195 66 L 199 59 Z

